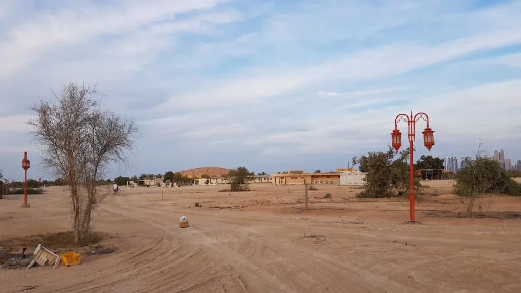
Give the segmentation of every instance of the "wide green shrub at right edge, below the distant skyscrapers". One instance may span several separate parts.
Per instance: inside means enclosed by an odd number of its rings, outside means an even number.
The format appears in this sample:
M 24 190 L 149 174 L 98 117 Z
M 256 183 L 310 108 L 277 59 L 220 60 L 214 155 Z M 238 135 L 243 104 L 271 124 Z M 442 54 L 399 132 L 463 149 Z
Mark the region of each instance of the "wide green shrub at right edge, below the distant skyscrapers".
M 483 193 L 503 193 L 521 196 L 521 184 L 510 177 L 491 158 L 479 157 L 457 173 L 454 193 L 462 197 L 476 197 Z

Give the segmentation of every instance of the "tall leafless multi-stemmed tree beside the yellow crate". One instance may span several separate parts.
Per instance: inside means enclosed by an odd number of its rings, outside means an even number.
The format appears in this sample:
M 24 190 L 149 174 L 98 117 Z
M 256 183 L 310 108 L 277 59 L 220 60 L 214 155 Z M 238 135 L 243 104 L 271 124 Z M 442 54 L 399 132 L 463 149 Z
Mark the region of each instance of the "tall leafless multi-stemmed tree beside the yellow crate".
M 42 151 L 42 167 L 69 186 L 74 236 L 80 242 L 89 233 L 92 211 L 109 194 L 98 180 L 111 164 L 128 163 L 126 154 L 139 130 L 133 119 L 105 110 L 95 86 L 68 83 L 54 95 L 56 102 L 41 100 L 30 107 L 28 124 Z

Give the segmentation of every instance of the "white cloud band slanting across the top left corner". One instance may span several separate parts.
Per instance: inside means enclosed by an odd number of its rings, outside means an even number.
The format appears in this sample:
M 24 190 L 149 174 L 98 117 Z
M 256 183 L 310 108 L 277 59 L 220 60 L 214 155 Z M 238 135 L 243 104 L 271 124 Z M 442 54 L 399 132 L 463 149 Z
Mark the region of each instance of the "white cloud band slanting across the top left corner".
M 84 5 L 81 9 L 64 8 L 57 13 L 39 14 L 8 33 L 0 43 L 4 56 L 0 78 L 26 67 L 32 60 L 52 48 L 86 45 L 103 34 L 123 34 L 141 26 L 171 19 L 178 14 L 215 7 L 218 0 L 171 2 L 162 0 L 129 1 L 125 6 Z M 78 8 L 78 7 L 77 7 Z M 179 29 L 179 28 L 178 28 Z

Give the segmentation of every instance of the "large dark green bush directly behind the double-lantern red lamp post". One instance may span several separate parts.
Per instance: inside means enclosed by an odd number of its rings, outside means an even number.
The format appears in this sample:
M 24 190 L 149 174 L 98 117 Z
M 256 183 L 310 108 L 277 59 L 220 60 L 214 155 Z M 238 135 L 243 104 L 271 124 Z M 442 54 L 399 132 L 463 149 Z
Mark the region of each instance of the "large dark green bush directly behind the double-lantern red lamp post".
M 360 164 L 359 171 L 365 172 L 365 190 L 358 198 L 389 198 L 408 194 L 410 188 L 410 169 L 407 164 L 409 149 L 398 154 L 389 147 L 387 152 L 369 152 L 353 158 L 353 165 Z M 421 191 L 421 184 L 415 178 L 414 190 Z

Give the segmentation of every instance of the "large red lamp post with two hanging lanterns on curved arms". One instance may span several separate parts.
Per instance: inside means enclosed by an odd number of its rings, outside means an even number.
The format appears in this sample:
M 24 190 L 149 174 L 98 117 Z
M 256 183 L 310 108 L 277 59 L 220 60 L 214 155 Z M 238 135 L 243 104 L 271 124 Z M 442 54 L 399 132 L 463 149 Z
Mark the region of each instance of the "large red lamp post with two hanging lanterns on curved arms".
M 407 116 L 407 114 L 400 114 L 394 118 L 394 130 L 391 133 L 391 139 L 392 139 L 392 146 L 398 153 L 398 150 L 400 149 L 400 146 L 402 146 L 402 132 L 398 130 L 398 123 L 403 120 L 407 123 L 408 129 L 407 129 L 407 138 L 409 140 L 409 150 L 410 150 L 410 157 L 411 157 L 411 165 L 410 165 L 410 177 L 411 177 L 411 186 L 410 186 L 410 192 L 409 192 L 409 212 L 410 212 L 410 220 L 409 222 L 416 222 L 414 219 L 414 160 L 413 160 L 413 154 L 414 154 L 414 139 L 416 137 L 416 122 L 419 119 L 424 119 L 427 123 L 427 128 L 425 128 L 425 131 L 422 133 L 424 134 L 424 144 L 427 147 L 427 149 L 432 148 L 434 146 L 434 131 L 429 128 L 429 116 L 425 113 L 418 113 L 413 117 L 413 112 L 411 112 L 411 116 Z

